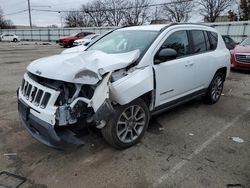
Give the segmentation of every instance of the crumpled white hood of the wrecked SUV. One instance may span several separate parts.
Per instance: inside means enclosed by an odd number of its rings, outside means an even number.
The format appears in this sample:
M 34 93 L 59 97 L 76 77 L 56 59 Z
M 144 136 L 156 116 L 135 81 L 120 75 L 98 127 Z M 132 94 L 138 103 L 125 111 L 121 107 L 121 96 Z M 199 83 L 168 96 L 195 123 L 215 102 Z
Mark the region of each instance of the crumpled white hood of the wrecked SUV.
M 35 60 L 27 70 L 49 79 L 93 85 L 102 79 L 103 74 L 125 68 L 139 56 L 139 50 L 122 54 L 96 50 L 66 53 Z

